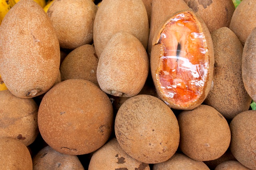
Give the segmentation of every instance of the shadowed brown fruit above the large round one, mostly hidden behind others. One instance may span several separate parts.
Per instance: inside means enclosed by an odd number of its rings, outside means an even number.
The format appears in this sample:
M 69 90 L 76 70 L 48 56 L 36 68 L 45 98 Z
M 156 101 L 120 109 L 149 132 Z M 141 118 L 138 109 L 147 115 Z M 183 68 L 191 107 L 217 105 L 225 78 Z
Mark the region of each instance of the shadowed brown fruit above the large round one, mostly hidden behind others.
M 98 56 L 92 45 L 82 45 L 74 49 L 60 66 L 62 80 L 84 79 L 98 86 L 96 71 Z

